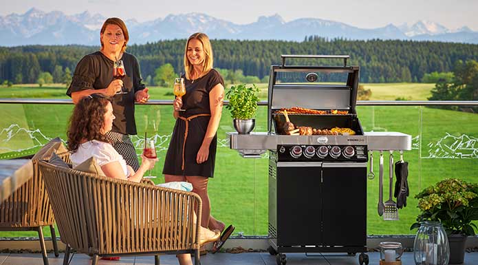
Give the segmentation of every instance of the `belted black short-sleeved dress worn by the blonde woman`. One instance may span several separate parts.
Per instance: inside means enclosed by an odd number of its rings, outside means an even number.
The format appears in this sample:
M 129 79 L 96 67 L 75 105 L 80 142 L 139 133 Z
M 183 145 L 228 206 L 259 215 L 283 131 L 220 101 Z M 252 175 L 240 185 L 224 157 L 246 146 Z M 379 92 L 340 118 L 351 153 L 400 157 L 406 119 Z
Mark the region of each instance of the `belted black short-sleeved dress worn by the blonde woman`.
M 184 77 L 184 76 L 183 76 Z M 187 80 L 186 94 L 182 97 L 183 109 L 180 112 L 182 118 L 188 120 L 188 134 L 184 142 L 186 120 L 177 118 L 174 125 L 173 135 L 164 160 L 163 174 L 175 176 L 203 176 L 213 178 L 217 148 L 217 135 L 214 136 L 209 146 L 208 160 L 197 164 L 196 156 L 202 145 L 210 120 L 209 92 L 217 84 L 224 85 L 224 80 L 216 70 L 210 70 L 206 75 L 195 81 Z M 197 115 L 207 116 L 197 116 Z M 194 118 L 195 117 L 195 118 Z M 184 164 L 183 164 L 184 144 Z

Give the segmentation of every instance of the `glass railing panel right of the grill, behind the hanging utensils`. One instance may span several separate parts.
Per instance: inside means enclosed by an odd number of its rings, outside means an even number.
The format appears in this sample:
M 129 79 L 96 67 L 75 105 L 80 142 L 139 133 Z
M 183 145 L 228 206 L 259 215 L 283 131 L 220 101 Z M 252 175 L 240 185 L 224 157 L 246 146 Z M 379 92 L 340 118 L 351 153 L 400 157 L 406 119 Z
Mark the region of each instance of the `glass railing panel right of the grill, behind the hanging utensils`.
M 399 131 L 412 136 L 412 150 L 404 152 L 404 160 L 409 162 L 409 187 L 410 196 L 407 206 L 398 210 L 399 221 L 384 221 L 378 215 L 378 178 L 380 152 L 373 151 L 373 172 L 375 178 L 367 181 L 367 233 L 369 235 L 394 235 L 411 234 L 410 226 L 415 222 L 418 213 L 416 199 L 413 198 L 418 191 L 420 183 L 420 150 L 417 138 L 420 133 L 420 117 L 422 107 L 408 106 L 372 106 L 358 107 L 358 118 L 364 131 Z M 389 158 L 390 152 L 383 152 L 383 201 L 389 200 Z M 400 160 L 400 153 L 394 151 L 393 159 Z M 368 168 L 369 169 L 369 168 Z M 393 189 L 395 189 L 395 176 L 393 176 Z M 397 202 L 396 198 L 393 198 Z M 351 220 L 353 221 L 353 220 Z

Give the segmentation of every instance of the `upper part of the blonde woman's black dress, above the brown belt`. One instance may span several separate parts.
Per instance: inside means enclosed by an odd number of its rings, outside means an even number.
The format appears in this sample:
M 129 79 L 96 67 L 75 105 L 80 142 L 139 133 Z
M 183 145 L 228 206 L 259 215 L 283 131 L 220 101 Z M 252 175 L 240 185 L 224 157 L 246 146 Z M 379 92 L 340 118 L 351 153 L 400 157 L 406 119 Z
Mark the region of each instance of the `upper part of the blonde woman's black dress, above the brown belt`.
M 186 94 L 182 96 L 182 108 L 186 109 L 186 112 L 185 114 L 180 112 L 180 115 L 188 117 L 195 114 L 210 114 L 209 92 L 217 84 L 224 86 L 224 79 L 214 69 L 195 81 L 186 79 L 184 82 Z

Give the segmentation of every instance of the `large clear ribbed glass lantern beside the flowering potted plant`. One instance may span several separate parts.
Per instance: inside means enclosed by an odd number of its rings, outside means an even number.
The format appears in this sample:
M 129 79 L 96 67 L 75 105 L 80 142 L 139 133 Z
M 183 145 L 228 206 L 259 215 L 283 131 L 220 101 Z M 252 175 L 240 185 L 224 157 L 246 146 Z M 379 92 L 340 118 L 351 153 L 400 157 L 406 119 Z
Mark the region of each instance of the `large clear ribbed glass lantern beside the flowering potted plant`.
M 413 256 L 416 265 L 446 265 L 450 246 L 445 229 L 440 222 L 422 222 L 415 235 Z

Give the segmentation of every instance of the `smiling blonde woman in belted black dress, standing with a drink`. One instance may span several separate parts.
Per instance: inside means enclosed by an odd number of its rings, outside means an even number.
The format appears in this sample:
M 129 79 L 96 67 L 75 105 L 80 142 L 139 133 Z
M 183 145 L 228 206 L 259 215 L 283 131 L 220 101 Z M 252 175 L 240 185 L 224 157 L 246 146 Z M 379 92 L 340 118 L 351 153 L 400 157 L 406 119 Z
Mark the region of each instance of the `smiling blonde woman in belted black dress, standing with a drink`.
M 202 199 L 201 224 L 224 232 L 221 245 L 234 226 L 224 229 L 223 222 L 210 216 L 208 178 L 214 176 L 224 80 L 213 69 L 213 50 L 206 34 L 195 33 L 189 37 L 184 51 L 184 68 L 186 74 L 182 77 L 185 78 L 186 94 L 176 97 L 173 102 L 176 123 L 164 160 L 164 179 L 193 184 L 193 191 Z

